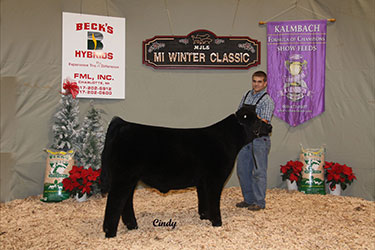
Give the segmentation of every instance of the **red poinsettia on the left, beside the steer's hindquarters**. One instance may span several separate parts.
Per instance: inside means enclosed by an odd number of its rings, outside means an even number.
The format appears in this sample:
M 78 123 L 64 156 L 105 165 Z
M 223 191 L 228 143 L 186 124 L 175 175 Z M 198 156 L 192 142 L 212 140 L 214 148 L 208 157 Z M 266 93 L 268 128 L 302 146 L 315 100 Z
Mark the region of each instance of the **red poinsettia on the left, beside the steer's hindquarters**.
M 99 190 L 101 169 L 93 170 L 91 167 L 88 169 L 83 166 L 73 166 L 69 171 L 69 177 L 65 178 L 62 183 L 64 189 L 69 191 L 71 196 L 78 194 L 82 197 L 85 193 L 90 195 L 93 191 Z

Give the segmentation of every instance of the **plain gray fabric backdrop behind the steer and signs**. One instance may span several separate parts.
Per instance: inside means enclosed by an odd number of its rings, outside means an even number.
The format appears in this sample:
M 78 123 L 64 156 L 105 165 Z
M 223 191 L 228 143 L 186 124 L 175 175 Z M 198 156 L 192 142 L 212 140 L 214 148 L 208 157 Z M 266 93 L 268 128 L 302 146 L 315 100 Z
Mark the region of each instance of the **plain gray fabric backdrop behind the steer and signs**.
M 280 165 L 297 159 L 300 144 L 325 144 L 326 160 L 345 163 L 357 175 L 344 195 L 374 200 L 373 0 L 1 0 L 1 200 L 43 190 L 43 148 L 52 142 L 60 99 L 62 12 L 126 18 L 126 99 L 95 100 L 106 126 L 119 115 L 145 124 L 202 127 L 234 112 L 251 74 L 267 69 L 266 27 L 258 22 L 292 6 L 273 21 L 337 19 L 328 24 L 326 111 L 295 128 L 273 118 L 268 187 L 285 186 Z M 196 29 L 261 41 L 261 65 L 154 70 L 142 64 L 143 40 Z M 88 104 L 80 100 L 81 120 Z M 235 171 L 227 183 L 233 185 Z

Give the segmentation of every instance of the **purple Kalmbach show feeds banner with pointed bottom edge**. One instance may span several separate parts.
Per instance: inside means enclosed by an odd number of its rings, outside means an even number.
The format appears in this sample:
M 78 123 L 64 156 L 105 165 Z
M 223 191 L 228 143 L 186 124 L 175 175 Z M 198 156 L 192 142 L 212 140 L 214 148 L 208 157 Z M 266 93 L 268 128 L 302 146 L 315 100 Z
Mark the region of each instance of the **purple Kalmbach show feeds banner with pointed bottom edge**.
M 274 116 L 298 126 L 324 112 L 327 20 L 267 23 Z

